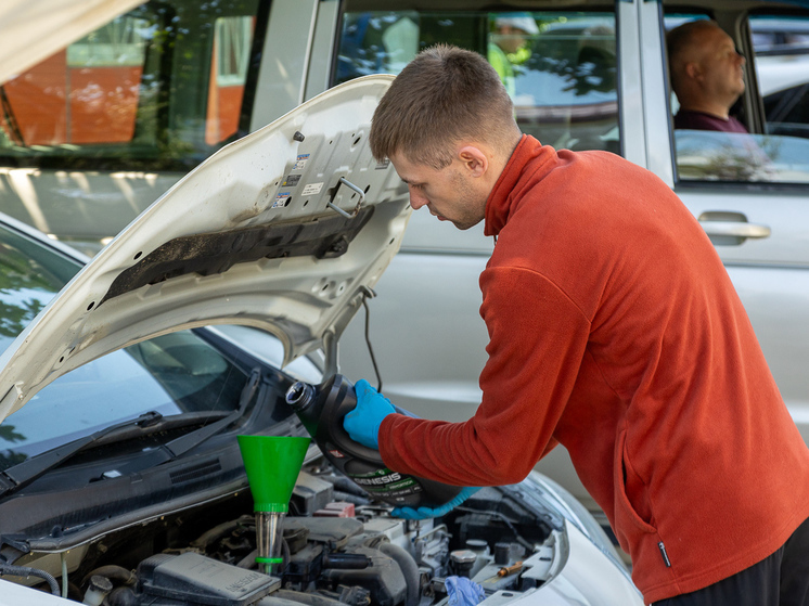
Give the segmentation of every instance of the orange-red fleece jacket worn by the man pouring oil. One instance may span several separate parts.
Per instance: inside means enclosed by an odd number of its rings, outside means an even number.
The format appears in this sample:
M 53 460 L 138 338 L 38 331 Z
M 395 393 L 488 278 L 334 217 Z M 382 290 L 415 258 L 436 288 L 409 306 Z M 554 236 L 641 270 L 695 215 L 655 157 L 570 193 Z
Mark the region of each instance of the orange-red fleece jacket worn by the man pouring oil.
M 483 402 L 465 423 L 387 416 L 385 463 L 508 485 L 564 444 L 646 603 L 775 552 L 809 516 L 809 450 L 682 202 L 616 155 L 524 136 L 486 233 Z

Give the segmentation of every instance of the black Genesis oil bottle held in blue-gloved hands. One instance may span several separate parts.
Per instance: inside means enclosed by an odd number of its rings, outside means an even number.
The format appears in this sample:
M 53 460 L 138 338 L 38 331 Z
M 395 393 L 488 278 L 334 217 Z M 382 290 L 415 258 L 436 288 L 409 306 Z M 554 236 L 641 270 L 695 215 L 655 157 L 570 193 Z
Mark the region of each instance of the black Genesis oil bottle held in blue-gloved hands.
M 286 403 L 323 455 L 372 497 L 398 507 L 438 507 L 461 491 L 459 486 L 394 472 L 385 466 L 377 450 L 352 440 L 343 428 L 343 417 L 357 405 L 357 395 L 343 375 L 317 386 L 297 382 L 286 391 Z

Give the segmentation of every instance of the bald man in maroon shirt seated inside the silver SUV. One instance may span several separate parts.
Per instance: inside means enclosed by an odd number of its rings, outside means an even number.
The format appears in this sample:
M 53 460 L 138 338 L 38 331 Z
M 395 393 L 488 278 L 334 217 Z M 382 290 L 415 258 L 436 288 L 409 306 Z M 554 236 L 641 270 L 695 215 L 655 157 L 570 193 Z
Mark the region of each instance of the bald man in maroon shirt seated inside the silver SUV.
M 680 102 L 675 128 L 747 132 L 729 115 L 744 93 L 744 56 L 715 22 L 684 23 L 669 31 L 671 87 Z

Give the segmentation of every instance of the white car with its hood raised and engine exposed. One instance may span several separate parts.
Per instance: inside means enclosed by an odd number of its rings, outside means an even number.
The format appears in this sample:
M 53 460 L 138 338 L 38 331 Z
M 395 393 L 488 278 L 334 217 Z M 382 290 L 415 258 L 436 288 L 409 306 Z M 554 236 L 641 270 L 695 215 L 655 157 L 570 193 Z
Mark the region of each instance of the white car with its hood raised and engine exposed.
M 236 437 L 305 434 L 284 395 L 336 372 L 410 217 L 367 143 L 390 80 L 226 146 L 89 263 L 0 216 L 0 605 L 415 606 L 446 604 L 449 579 L 489 605 L 642 603 L 539 474 L 408 521 L 313 446 L 283 562 L 257 569 Z

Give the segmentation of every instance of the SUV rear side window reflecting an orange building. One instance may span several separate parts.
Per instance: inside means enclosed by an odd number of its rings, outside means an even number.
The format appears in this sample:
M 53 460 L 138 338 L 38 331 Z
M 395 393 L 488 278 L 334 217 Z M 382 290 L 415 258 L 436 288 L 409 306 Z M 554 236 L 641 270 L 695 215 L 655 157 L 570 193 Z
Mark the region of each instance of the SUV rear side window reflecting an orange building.
M 152 2 L 0 87 L 0 162 L 187 170 L 237 132 L 259 0 Z

